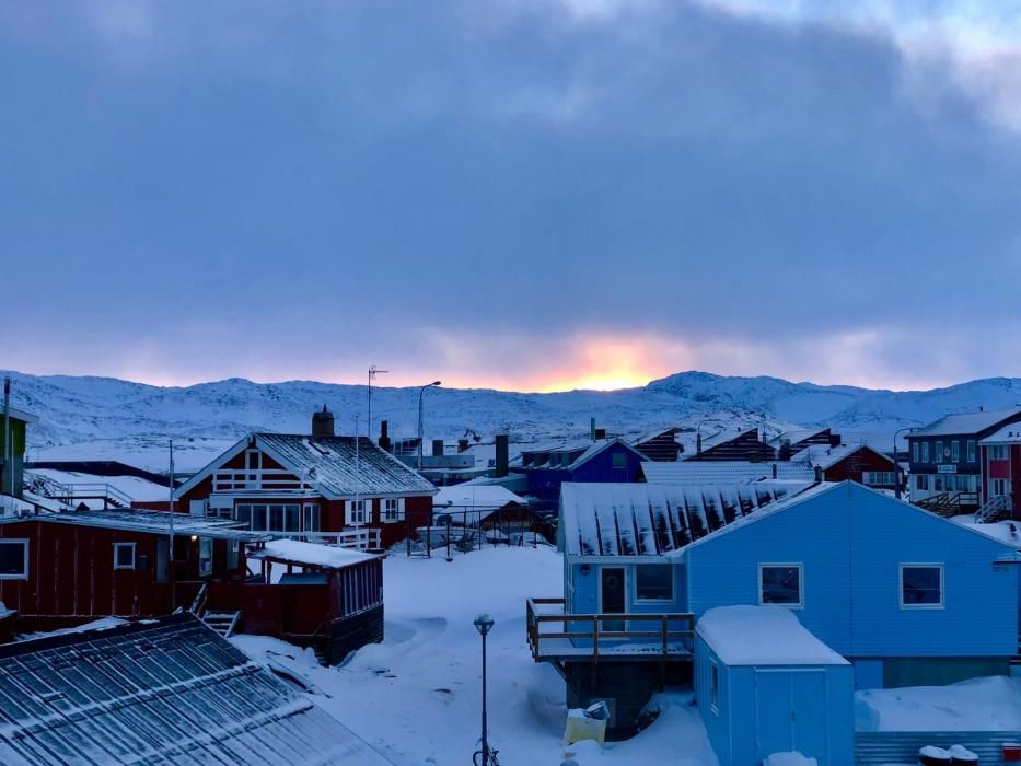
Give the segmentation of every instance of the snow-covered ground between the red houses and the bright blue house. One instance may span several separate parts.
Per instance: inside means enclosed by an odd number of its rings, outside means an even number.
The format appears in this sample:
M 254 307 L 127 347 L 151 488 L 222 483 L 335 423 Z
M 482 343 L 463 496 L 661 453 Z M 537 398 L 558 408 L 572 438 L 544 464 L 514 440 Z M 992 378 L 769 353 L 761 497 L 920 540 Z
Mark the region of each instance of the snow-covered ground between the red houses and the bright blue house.
M 258 636 L 234 643 L 308 677 L 313 698 L 399 766 L 465 764 L 480 732 L 482 643 L 472 620 L 496 619 L 489 635 L 489 731 L 503 764 L 559 764 L 567 708 L 564 681 L 536 664 L 525 639 L 527 596 L 562 592 L 562 561 L 549 548 L 485 548 L 443 557 L 384 561 L 386 639 L 343 668 L 320 666 L 311 651 Z M 715 766 L 691 697 L 664 695 L 660 718 L 636 738 L 579 743 L 579 766 Z

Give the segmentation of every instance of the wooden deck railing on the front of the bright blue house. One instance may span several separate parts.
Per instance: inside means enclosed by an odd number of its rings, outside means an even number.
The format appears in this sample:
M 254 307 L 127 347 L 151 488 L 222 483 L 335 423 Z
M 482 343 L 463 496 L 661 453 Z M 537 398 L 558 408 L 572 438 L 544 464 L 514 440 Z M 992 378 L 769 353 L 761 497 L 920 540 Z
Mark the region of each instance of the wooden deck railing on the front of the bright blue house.
M 694 614 L 567 614 L 565 607 L 564 599 L 529 599 L 525 622 L 529 647 L 536 662 L 564 659 L 597 662 L 601 657 L 665 661 L 692 655 Z M 622 623 L 624 629 L 617 628 Z

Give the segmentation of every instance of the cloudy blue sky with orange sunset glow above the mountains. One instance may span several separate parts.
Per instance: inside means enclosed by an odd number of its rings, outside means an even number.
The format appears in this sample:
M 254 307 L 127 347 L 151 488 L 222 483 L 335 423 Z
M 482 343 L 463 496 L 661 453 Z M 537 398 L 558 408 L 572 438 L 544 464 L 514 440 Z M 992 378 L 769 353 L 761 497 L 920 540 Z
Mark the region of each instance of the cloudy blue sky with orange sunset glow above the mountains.
M 0 365 L 1021 375 L 1021 2 L 0 4 Z

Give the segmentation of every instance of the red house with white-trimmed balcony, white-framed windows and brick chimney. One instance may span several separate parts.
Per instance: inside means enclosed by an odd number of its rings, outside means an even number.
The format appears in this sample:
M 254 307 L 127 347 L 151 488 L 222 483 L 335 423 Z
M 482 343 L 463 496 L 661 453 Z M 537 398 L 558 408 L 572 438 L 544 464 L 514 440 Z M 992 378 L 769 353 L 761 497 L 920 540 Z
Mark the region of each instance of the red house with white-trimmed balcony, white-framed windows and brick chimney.
M 428 525 L 436 487 L 364 437 L 252 433 L 183 484 L 177 510 L 275 537 L 382 550 Z

